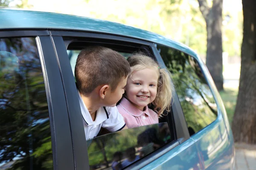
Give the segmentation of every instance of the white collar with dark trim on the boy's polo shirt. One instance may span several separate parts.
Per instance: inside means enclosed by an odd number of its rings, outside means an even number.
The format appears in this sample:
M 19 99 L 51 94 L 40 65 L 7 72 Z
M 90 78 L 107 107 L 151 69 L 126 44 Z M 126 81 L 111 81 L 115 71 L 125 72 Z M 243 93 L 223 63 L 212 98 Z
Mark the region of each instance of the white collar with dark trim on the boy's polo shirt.
M 83 119 L 87 125 L 99 125 L 108 119 L 107 110 L 105 111 L 105 109 L 102 107 L 96 111 L 96 119 L 93 122 L 93 119 L 90 116 L 90 112 L 86 108 L 86 105 L 84 104 L 84 101 L 83 101 L 78 89 L 77 89 L 77 93 L 79 96 L 79 104 L 80 104 L 80 108 L 81 108 L 81 113 L 82 113 Z

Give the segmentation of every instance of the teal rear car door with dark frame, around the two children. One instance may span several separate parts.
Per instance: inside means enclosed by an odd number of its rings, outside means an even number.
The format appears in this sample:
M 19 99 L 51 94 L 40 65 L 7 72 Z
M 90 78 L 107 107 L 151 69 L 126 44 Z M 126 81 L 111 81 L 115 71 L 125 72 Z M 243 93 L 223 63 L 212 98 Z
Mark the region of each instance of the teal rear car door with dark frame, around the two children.
M 102 162 L 105 161 L 104 164 L 91 163 L 93 159 L 98 158 L 91 157 L 91 150 L 87 150 L 89 144 L 90 146 L 92 144 L 89 143 L 87 145 L 86 143 L 88 141 L 86 142 L 84 137 L 81 111 L 73 74 L 76 59 L 73 60 L 73 56 L 77 57 L 79 50 L 84 46 L 102 45 L 119 51 L 126 57 L 128 57 L 133 50 L 145 50 L 144 52 L 148 56 L 159 60 L 160 58 L 156 57 L 153 52 L 155 50 L 154 44 L 125 37 L 72 31 L 51 31 L 51 35 L 58 63 L 60 65 L 61 77 L 67 99 L 67 107 L 69 109 L 76 169 L 84 170 L 85 168 L 89 168 L 89 164 L 92 169 L 96 167 L 103 168 L 105 166 L 111 166 L 111 164 L 106 163 L 109 161 L 108 158 L 103 160 L 103 157 Z M 177 94 L 175 94 L 172 113 L 169 113 L 169 116 L 163 120 L 163 122 L 167 122 L 169 125 L 169 130 L 171 132 L 170 138 L 172 140 L 160 149 L 154 150 L 154 152 L 151 152 L 148 156 L 131 164 L 127 169 L 166 169 L 166 167 L 203 169 L 197 145 L 193 139 L 189 139 L 186 121 L 180 107 L 180 102 L 177 101 Z M 128 129 L 128 131 L 129 130 L 133 129 Z M 123 130 L 120 133 L 125 133 L 125 131 L 127 130 Z M 113 140 L 113 142 L 120 143 L 115 140 Z M 121 145 L 120 147 L 125 150 L 127 146 Z M 104 148 L 107 149 L 107 147 Z M 88 153 L 90 153 L 89 156 Z M 111 157 L 112 156 L 110 156 L 110 158 Z

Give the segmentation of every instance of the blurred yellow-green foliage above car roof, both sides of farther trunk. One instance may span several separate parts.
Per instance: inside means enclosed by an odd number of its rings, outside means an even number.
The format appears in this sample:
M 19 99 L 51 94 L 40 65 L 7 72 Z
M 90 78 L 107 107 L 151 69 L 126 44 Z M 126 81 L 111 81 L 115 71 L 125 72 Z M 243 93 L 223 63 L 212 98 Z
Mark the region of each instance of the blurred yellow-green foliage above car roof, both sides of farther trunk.
M 3 1 L 8 6 L 12 0 Z M 237 1 L 227 1 L 236 6 L 239 4 Z M 73 3 L 65 1 L 61 4 L 51 1 L 51 6 L 43 6 L 47 3 L 45 0 L 15 2 L 18 2 L 15 5 L 18 8 L 33 9 L 38 6 L 36 10 L 99 18 L 153 31 L 180 41 L 199 55 L 206 56 L 206 23 L 197 0 L 73 0 Z M 212 0 L 207 0 L 207 3 L 209 7 L 212 6 Z M 231 19 L 222 26 L 223 51 L 228 52 L 229 56 L 237 56 L 241 53 L 243 14 L 237 7 L 226 8 L 223 7 L 223 19 L 227 14 Z

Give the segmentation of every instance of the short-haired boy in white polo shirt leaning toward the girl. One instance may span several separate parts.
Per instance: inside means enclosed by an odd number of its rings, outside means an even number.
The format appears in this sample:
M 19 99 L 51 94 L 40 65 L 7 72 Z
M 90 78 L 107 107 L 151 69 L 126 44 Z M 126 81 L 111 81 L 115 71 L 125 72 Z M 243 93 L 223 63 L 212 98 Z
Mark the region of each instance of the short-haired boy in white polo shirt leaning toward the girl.
M 86 140 L 97 136 L 101 127 L 111 132 L 127 128 L 116 102 L 124 94 L 129 72 L 126 59 L 109 48 L 87 47 L 79 53 L 75 77 Z

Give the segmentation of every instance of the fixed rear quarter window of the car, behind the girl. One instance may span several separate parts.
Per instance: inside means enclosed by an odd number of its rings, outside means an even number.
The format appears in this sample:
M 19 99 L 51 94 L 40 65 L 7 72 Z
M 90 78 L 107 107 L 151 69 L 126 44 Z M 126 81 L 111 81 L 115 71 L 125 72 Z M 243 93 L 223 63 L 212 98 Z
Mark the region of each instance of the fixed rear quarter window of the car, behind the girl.
M 212 92 L 198 62 L 192 56 L 163 45 L 157 45 L 157 49 L 172 73 L 189 133 L 193 135 L 217 117 Z

